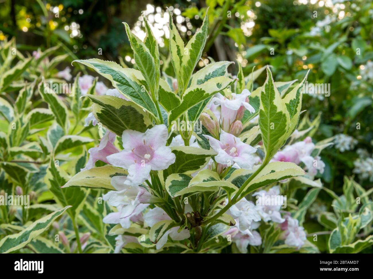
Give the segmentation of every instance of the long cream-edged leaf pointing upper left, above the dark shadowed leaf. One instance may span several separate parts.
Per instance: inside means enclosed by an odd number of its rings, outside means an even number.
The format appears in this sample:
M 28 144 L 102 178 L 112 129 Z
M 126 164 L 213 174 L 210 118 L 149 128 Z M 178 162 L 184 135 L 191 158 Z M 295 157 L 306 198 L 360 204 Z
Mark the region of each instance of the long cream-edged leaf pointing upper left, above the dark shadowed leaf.
M 144 78 L 140 71 L 122 68 L 115 62 L 103 61 L 100 59 L 75 60 L 82 63 L 97 73 L 109 79 L 112 85 L 119 90 L 126 98 L 138 104 L 153 117 L 157 117 L 157 108 L 150 95 L 144 90 L 145 85 L 141 84 L 138 78 Z

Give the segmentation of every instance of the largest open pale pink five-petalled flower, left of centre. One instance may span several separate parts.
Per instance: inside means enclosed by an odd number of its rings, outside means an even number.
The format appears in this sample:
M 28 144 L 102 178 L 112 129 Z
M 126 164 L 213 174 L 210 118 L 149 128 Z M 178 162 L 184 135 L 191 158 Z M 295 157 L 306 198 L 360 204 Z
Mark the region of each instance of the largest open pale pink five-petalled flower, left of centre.
M 141 133 L 125 130 L 122 134 L 123 150 L 107 156 L 110 164 L 128 170 L 126 185 L 141 185 L 150 170 L 164 170 L 175 163 L 175 154 L 166 147 L 167 127 L 156 125 Z

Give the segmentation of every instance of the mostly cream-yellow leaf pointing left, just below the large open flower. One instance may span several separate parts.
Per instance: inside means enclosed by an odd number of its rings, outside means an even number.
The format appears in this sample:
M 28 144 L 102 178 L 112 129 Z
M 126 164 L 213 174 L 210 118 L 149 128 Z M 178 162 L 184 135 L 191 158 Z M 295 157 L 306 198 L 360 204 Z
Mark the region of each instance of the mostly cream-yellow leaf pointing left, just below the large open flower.
M 69 181 L 61 185 L 62 188 L 66 187 L 85 187 L 85 188 L 98 188 L 115 190 L 110 183 L 113 176 L 126 175 L 124 169 L 105 165 L 103 167 L 94 167 L 93 169 L 83 170 L 74 175 Z

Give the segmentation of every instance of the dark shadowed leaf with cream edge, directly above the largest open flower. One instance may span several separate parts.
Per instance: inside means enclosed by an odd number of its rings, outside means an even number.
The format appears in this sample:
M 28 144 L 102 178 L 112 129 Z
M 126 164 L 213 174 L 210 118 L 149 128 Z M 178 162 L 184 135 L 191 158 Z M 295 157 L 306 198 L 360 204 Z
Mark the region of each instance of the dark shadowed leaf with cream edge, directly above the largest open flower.
M 114 96 L 87 95 L 93 105 L 93 114 L 107 129 L 122 137 L 127 129 L 145 132 L 152 124 L 147 114 L 135 103 Z

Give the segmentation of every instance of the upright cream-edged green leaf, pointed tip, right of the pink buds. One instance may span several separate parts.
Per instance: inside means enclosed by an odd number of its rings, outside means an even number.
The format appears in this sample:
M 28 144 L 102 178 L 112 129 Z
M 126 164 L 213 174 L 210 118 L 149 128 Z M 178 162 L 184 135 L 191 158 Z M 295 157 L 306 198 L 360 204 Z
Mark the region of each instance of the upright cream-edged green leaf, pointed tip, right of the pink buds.
M 259 109 L 259 126 L 267 160 L 285 143 L 289 122 L 289 113 L 267 67 L 267 79 L 262 87 Z

